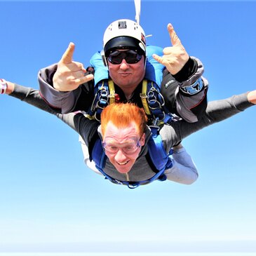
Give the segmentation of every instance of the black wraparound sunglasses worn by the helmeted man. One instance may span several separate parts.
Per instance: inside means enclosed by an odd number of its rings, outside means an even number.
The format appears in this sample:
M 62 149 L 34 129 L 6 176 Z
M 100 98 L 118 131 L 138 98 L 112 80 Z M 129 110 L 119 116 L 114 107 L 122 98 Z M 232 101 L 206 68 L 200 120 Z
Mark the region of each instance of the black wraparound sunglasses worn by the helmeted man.
M 142 59 L 142 55 L 137 53 L 135 50 L 115 50 L 114 52 L 110 52 L 107 60 L 112 64 L 121 64 L 123 59 L 126 60 L 128 64 L 135 64 Z

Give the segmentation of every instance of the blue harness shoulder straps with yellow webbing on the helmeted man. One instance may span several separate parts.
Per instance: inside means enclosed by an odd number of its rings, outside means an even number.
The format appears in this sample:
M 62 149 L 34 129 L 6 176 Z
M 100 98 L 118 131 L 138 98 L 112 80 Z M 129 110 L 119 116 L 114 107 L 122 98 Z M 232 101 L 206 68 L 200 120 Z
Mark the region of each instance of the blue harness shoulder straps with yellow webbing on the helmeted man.
M 151 57 L 153 53 L 163 54 L 163 48 L 159 46 L 147 46 L 146 72 L 142 81 L 142 92 L 140 98 L 144 111 L 151 124 L 168 123 L 172 116 L 165 107 L 165 101 L 160 93 L 160 85 L 163 79 L 163 69 L 165 67 Z M 90 65 L 95 69 L 95 97 L 93 104 L 88 111 L 92 119 L 100 121 L 102 109 L 115 102 L 116 94 L 114 83 L 109 79 L 107 67 L 102 62 L 100 52 L 97 52 L 90 59 Z

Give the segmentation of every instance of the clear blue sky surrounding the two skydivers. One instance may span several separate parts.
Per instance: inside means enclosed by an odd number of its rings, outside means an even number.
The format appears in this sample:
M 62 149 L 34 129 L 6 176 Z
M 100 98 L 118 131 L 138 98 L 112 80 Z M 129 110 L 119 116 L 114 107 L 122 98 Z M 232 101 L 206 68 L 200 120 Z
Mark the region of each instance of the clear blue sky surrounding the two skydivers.
M 135 19 L 133 1 L 0 1 L 0 77 L 38 88 L 37 72 L 69 41 L 88 65 L 110 22 Z M 200 58 L 209 100 L 256 89 L 255 1 L 143 1 L 147 43 L 170 46 L 172 22 Z M 64 123 L 0 96 L 0 252 L 256 252 L 255 114 L 251 108 L 183 144 L 196 183 L 138 189 L 88 170 Z

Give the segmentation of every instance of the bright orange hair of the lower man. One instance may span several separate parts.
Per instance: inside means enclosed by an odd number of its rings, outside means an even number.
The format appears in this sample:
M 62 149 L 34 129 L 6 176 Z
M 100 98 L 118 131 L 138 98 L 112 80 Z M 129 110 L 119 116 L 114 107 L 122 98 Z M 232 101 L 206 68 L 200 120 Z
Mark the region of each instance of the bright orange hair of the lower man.
M 140 132 L 140 135 L 144 133 L 144 128 L 147 123 L 147 116 L 144 109 L 137 107 L 132 103 L 113 103 L 105 107 L 102 110 L 101 126 L 102 135 L 105 135 L 107 123 L 112 121 L 114 126 L 118 128 L 124 128 L 134 121 Z

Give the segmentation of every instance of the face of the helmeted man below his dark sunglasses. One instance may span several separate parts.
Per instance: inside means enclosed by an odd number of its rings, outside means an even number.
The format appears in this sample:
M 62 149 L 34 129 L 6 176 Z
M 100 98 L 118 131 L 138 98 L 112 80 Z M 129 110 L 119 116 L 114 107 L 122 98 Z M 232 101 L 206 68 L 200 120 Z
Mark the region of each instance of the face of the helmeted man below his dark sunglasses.
M 144 60 L 144 55 L 142 55 L 139 62 L 134 64 L 128 64 L 125 59 L 123 59 L 120 64 L 113 64 L 107 60 L 109 66 L 109 76 L 122 90 L 135 90 L 135 88 L 144 78 Z

